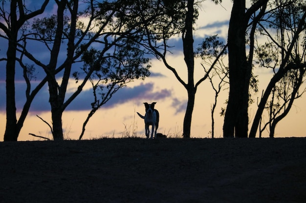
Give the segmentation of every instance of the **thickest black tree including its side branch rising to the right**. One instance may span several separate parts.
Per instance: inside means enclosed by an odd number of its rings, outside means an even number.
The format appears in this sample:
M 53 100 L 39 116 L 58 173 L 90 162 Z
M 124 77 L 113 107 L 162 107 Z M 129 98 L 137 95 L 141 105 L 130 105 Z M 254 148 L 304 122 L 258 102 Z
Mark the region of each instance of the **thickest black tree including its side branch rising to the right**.
M 267 2 L 268 0 L 254 1 L 249 9 L 246 9 L 245 0 L 234 0 L 233 3 L 228 29 L 229 97 L 224 116 L 223 137 L 247 137 L 248 135 L 254 33 L 258 22 L 264 16 Z M 249 23 L 251 17 L 253 20 Z M 249 26 L 251 28 L 247 56 L 245 38 Z

